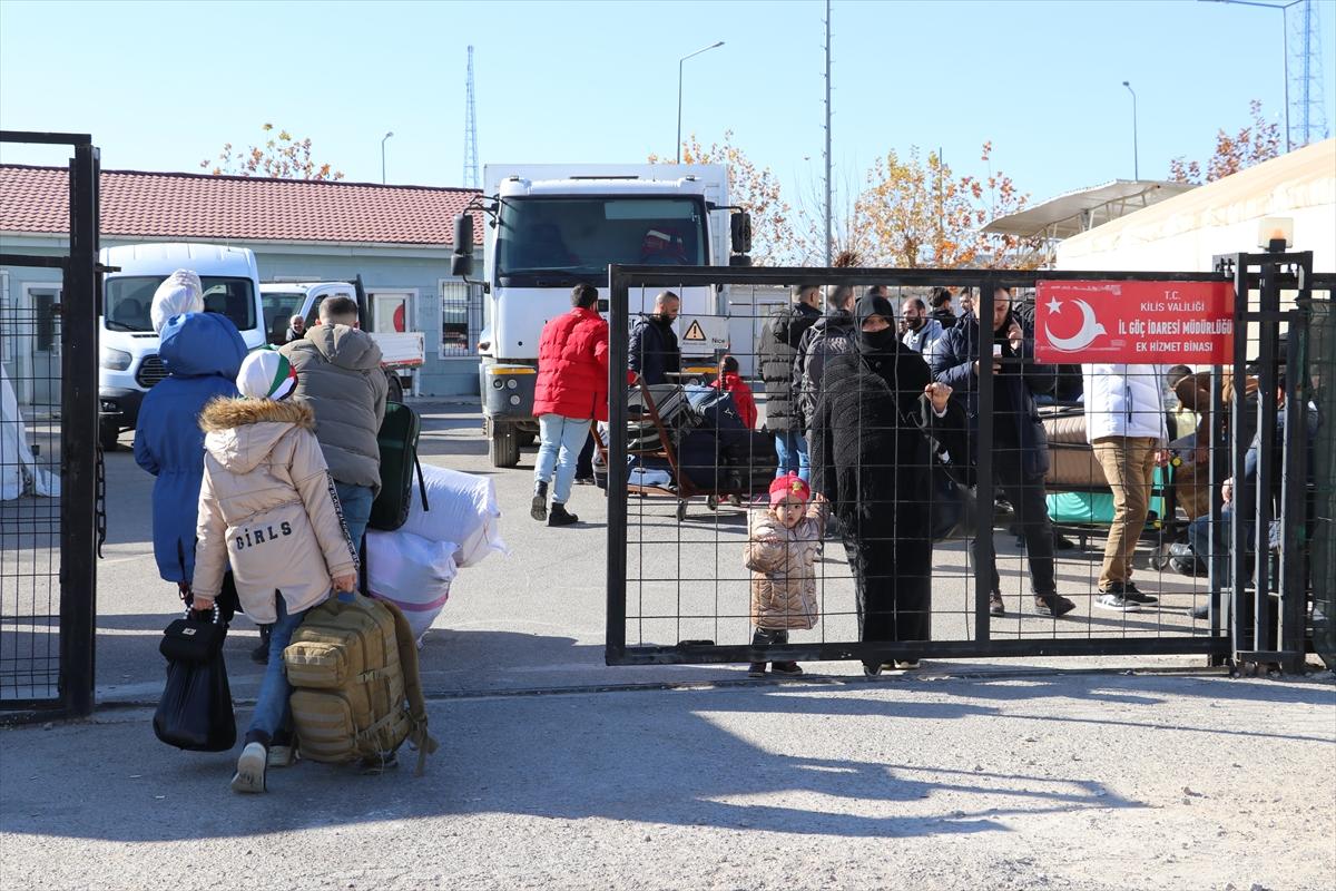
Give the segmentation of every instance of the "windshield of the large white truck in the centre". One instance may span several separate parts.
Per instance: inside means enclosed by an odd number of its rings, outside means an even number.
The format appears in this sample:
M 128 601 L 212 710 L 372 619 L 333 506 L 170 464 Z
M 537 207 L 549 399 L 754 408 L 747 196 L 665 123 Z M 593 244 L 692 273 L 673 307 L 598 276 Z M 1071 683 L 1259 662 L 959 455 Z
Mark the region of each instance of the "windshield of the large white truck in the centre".
M 693 198 L 518 198 L 501 202 L 497 275 L 600 279 L 609 263 L 701 266 L 704 206 Z

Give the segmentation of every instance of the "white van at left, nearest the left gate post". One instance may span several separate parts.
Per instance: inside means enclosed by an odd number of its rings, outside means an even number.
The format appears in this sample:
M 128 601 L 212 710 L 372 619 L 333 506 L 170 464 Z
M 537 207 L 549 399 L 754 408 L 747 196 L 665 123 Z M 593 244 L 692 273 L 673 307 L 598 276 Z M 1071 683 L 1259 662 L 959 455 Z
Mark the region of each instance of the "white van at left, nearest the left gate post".
M 98 374 L 100 439 L 116 446 L 122 430 L 134 430 L 148 390 L 167 377 L 158 358 L 158 335 L 148 310 L 154 291 L 179 269 L 196 273 L 204 286 L 204 310 L 230 318 L 247 349 L 265 343 L 259 270 L 255 254 L 222 244 L 164 243 L 103 248 L 102 357 Z

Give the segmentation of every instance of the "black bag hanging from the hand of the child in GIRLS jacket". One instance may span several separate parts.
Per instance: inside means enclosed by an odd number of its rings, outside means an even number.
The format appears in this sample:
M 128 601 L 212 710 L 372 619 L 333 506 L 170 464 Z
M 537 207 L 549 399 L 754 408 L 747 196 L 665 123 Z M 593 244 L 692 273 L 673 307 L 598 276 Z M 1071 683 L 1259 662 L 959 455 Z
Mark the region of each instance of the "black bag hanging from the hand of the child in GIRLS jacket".
M 226 752 L 236 743 L 226 637 L 216 608 L 212 621 L 187 609 L 163 633 L 159 651 L 167 659 L 167 685 L 154 713 L 154 733 L 163 743 L 191 752 Z

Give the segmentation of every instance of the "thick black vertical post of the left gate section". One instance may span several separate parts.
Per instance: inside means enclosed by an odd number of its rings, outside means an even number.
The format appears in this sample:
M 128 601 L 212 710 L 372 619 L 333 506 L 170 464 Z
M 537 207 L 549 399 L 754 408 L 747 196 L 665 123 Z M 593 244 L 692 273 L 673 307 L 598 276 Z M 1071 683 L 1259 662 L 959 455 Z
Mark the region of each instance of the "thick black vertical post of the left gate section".
M 61 291 L 60 691 L 72 716 L 92 713 L 98 449 L 98 150 L 69 164 L 69 259 Z

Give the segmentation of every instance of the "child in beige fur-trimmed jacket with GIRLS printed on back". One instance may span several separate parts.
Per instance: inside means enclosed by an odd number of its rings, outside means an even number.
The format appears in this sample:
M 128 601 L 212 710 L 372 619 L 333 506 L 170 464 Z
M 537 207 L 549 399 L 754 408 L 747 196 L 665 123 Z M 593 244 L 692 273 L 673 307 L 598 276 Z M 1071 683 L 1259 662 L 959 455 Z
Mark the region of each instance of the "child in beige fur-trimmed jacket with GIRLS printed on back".
M 315 439 L 310 406 L 286 401 L 297 371 L 273 351 L 246 357 L 244 398 L 204 406 L 204 481 L 196 522 L 195 608 L 210 609 L 231 564 L 246 614 L 270 625 L 269 667 L 236 763 L 232 789 L 263 792 L 274 735 L 291 688 L 283 649 L 306 610 L 357 586 L 357 552 Z M 282 744 L 282 743 L 281 743 Z M 286 745 L 285 745 L 286 748 Z

